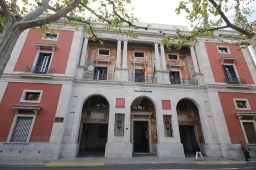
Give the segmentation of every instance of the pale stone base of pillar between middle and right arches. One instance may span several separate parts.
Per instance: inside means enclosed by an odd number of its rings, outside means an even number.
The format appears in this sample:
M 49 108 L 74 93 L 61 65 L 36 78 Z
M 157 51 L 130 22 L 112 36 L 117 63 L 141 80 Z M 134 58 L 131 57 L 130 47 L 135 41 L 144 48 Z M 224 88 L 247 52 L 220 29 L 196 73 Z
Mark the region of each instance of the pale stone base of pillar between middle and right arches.
M 181 143 L 158 143 L 157 156 L 160 158 L 184 158 L 185 153 Z

